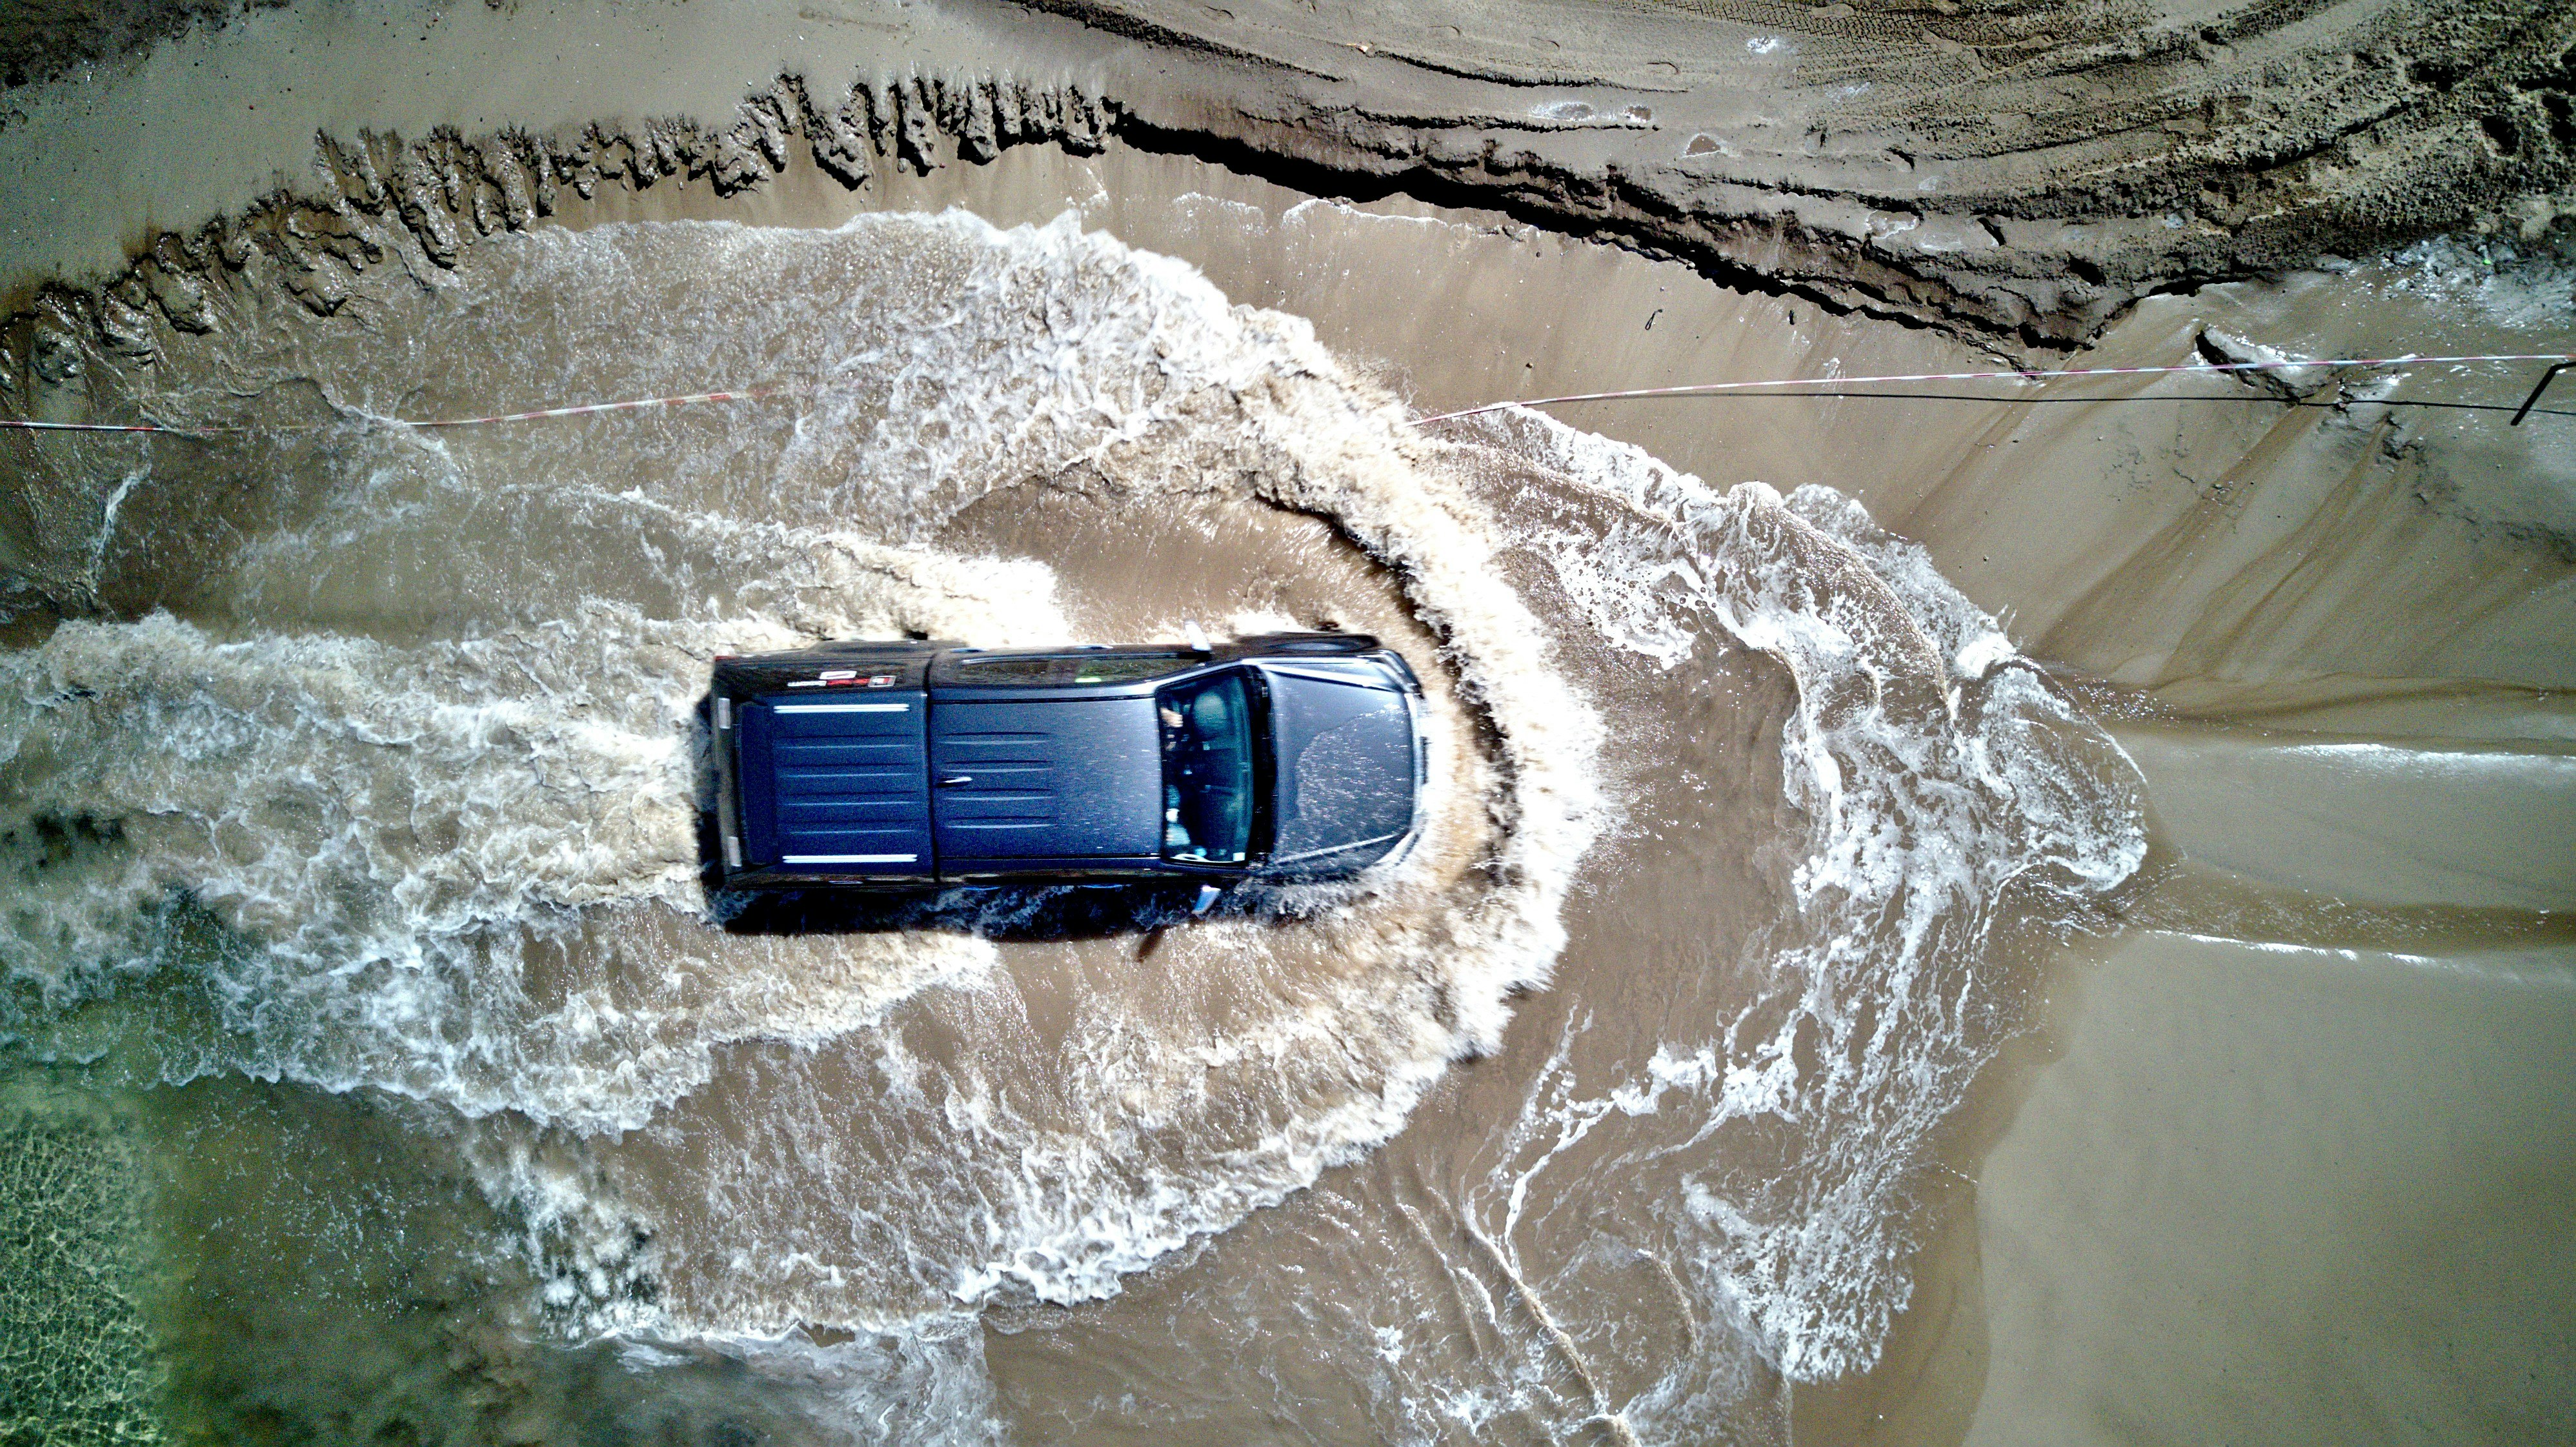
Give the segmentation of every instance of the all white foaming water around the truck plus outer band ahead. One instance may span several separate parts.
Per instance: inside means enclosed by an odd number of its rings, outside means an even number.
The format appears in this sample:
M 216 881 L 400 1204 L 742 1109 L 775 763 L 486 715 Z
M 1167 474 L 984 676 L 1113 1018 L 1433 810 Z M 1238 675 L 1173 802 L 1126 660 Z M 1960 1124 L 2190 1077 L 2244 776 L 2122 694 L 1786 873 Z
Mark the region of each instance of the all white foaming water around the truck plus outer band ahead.
M 250 397 L 332 425 L 240 463 L 299 502 L 222 546 L 178 525 L 204 479 L 129 479 L 95 559 L 57 572 L 162 610 L 0 659 L 23 881 L 0 1027 L 139 1081 L 440 1112 L 422 1151 L 523 1226 L 531 1318 L 613 1334 L 634 1370 L 719 1344 L 824 1383 L 848 1421 L 935 1398 L 981 1437 L 979 1311 L 1118 1295 L 1396 1135 L 1551 978 L 1641 770 L 1571 662 L 1592 641 L 1667 675 L 1710 646 L 1788 669 L 1798 863 L 1728 960 L 1754 989 L 1628 1079 L 1540 1066 L 1492 1184 L 1517 1200 L 1569 1138 L 1695 1112 L 1713 1164 L 1664 1195 L 1692 1293 L 1790 1377 L 1852 1370 L 1906 1300 L 1906 1182 L 2014 1017 L 1981 976 L 2002 901 L 2087 899 L 2143 857 L 2117 749 L 1850 499 L 1718 494 L 1533 415 L 1422 438 L 1303 322 L 1072 219 L 531 232 L 420 278 L 358 306 L 366 337 L 281 314 L 165 360 L 162 409 Z M 811 391 L 374 422 L 706 381 Z M 1497 494 L 1481 456 L 1538 492 Z M 1162 597 L 1074 597 L 1077 556 L 979 551 L 1015 497 L 1146 530 L 1321 518 L 1363 548 L 1383 592 L 1334 608 L 1432 677 L 1427 845 L 1149 960 L 963 901 L 907 929 L 726 932 L 696 839 L 716 651 L 1177 628 Z M 185 587 L 134 582 L 173 551 Z M 1512 582 L 1528 559 L 1566 608 Z M 1275 615 L 1262 587 L 1234 610 Z M 1721 1365 L 1674 1362 L 1628 1419 L 1687 1421 L 1736 1390 Z

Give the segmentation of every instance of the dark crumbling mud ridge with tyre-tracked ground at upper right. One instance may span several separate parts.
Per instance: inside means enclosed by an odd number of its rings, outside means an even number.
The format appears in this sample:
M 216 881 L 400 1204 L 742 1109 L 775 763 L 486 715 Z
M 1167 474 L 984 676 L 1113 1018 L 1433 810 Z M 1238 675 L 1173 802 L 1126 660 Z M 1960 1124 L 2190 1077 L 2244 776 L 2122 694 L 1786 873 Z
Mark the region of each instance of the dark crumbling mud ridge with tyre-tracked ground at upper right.
M 255 257 L 332 312 L 389 229 L 448 265 L 567 188 L 739 193 L 791 147 L 858 188 L 878 165 L 1115 139 L 1316 193 L 1502 209 L 2002 348 L 2079 345 L 2154 291 L 2576 221 L 2576 10 L 2553 0 L 1504 0 L 1473 33 L 1404 5 L 1030 8 L 943 15 L 1079 80 L 786 75 L 711 124 L 322 136 L 319 191 L 162 234 L 100 291 L 39 294 L 10 340 L 39 371 L 72 355 L 49 340 L 64 330 L 149 358 L 155 317 L 211 327 L 209 288 Z

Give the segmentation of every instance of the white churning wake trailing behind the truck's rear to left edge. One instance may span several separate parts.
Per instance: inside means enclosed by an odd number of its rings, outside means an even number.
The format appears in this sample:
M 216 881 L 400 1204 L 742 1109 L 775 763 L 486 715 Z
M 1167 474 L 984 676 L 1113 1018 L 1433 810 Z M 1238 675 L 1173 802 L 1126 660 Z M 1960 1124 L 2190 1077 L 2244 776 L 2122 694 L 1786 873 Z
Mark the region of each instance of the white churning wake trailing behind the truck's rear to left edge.
M 59 628 L 0 662 L 5 834 L 33 886 L 0 914 L 5 1025 L 80 1056 L 98 1027 L 75 1007 L 167 971 L 198 1012 L 155 1032 L 162 1081 L 631 1130 L 726 1040 L 835 1035 L 989 968 L 953 937 L 744 942 L 716 968 L 672 919 L 698 893 L 716 636 L 616 608 L 415 649 Z

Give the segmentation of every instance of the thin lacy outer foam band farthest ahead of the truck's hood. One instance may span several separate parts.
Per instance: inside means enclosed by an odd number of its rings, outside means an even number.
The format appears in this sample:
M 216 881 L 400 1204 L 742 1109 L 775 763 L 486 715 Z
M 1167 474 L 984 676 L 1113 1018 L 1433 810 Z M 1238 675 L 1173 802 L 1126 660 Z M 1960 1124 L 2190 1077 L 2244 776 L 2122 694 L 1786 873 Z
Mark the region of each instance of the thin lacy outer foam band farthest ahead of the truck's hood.
M 1538 1148 L 1685 1099 L 1700 1141 L 1785 1133 L 1793 1146 L 1759 1159 L 1798 1172 L 1685 1174 L 1682 1205 L 1705 1226 L 1690 1267 L 1788 1377 L 1868 1367 L 1911 1293 L 1909 1174 L 2017 1020 L 1981 971 L 2007 899 L 2130 878 L 2143 785 L 1991 615 L 1857 502 L 1821 487 L 1721 494 L 1533 412 L 1484 435 L 1615 502 L 1600 536 L 1528 538 L 1602 639 L 1672 669 L 1716 626 L 1790 669 L 1783 788 L 1806 821 L 1795 914 L 1762 942 L 1762 999 L 1600 1094 L 1564 1099 L 1543 1071 L 1517 1138 Z M 1636 1419 L 1705 1388 L 1685 1365 Z

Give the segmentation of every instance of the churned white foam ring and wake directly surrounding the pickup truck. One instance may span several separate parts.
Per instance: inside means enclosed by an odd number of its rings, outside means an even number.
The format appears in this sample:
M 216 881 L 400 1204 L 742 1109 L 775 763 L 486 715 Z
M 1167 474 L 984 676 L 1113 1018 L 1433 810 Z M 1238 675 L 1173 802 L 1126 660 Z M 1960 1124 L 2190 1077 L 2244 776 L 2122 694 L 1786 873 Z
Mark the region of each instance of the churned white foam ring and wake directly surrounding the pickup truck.
M 639 278 L 703 286 L 662 306 Z M 631 327 L 567 355 L 544 324 L 564 309 Z M 39 785 L 21 816 L 126 832 L 80 888 L 93 937 L 13 945 L 41 1048 L 77 1048 L 62 1012 L 108 991 L 82 960 L 175 971 L 214 1025 L 173 1076 L 479 1120 L 464 1148 L 572 1334 L 933 1331 L 994 1298 L 1113 1295 L 1386 1141 L 1450 1058 L 1499 1043 L 1507 991 L 1546 981 L 1600 724 L 1502 582 L 1502 530 L 1303 322 L 1072 219 L 948 214 L 510 237 L 446 296 L 389 296 L 384 324 L 402 348 L 283 337 L 224 358 L 224 386 L 309 386 L 314 353 L 350 417 L 417 409 L 394 407 L 404 355 L 515 386 L 562 368 L 582 394 L 672 366 L 837 386 L 734 425 L 353 422 L 304 518 L 222 559 L 240 639 L 147 618 L 13 659 Z M 167 397 L 222 397 L 167 366 Z M 696 922 L 703 659 L 925 623 L 1072 633 L 1025 564 L 935 543 L 1015 487 L 1332 518 L 1396 569 L 1489 736 L 1445 711 L 1435 837 L 1401 870 L 1208 922 L 1159 960 L 1270 976 L 1221 1020 L 1103 1007 L 1033 1045 L 994 963 L 1043 950 L 953 922 L 822 942 Z M 170 899 L 222 945 L 175 953 Z M 925 1022 L 943 1050 L 907 1035 Z

